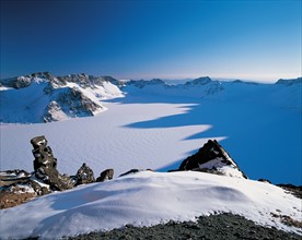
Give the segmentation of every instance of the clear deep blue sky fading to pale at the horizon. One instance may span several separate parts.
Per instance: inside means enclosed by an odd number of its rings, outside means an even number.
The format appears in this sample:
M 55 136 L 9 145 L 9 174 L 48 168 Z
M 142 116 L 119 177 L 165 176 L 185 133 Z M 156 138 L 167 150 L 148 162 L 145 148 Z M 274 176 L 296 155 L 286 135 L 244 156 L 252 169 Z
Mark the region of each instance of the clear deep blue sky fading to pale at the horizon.
M 1 79 L 301 76 L 301 0 L 1 0 Z

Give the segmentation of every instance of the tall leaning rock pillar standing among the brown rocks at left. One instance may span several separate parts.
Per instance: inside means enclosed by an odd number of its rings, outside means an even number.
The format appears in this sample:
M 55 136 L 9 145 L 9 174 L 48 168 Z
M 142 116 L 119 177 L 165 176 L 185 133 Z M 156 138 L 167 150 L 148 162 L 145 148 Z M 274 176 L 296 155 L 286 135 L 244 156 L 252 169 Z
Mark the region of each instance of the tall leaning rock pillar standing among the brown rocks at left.
M 45 136 L 36 136 L 31 140 L 34 147 L 33 155 L 35 177 L 49 184 L 51 190 L 62 191 L 74 187 L 74 182 L 67 176 L 61 176 L 57 170 L 57 158 L 47 146 Z

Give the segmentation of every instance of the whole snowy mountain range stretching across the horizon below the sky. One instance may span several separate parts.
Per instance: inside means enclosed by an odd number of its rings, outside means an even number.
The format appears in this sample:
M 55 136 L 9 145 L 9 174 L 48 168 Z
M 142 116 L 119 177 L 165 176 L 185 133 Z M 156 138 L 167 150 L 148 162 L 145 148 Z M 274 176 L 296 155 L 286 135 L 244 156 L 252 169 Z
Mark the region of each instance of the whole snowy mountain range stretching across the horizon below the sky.
M 124 97 L 125 93 L 138 91 L 166 96 L 216 97 L 221 100 L 244 97 L 244 93 L 268 94 L 269 99 L 272 98 L 279 107 L 301 112 L 301 77 L 260 84 L 241 80 L 213 81 L 205 76 L 175 85 L 159 79 L 119 81 L 112 76 L 84 73 L 54 76 L 49 72 L 40 72 L 0 80 L 0 122 L 38 123 L 91 117 L 106 110 L 102 100 Z M 300 86 L 300 91 L 297 86 Z

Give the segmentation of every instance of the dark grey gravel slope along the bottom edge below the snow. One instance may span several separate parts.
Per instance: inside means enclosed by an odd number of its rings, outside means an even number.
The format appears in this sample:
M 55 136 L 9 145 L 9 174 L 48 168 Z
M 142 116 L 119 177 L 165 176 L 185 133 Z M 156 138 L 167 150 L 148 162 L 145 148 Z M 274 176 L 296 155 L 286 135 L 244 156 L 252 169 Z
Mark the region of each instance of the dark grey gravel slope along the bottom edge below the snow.
M 276 228 L 266 228 L 255 225 L 252 220 L 232 215 L 220 214 L 199 217 L 196 223 L 170 221 L 165 225 L 153 227 L 133 227 L 125 226 L 123 229 L 114 229 L 106 232 L 91 232 L 78 237 L 66 238 L 69 240 L 88 240 L 88 239 L 266 239 L 266 240 L 284 240 L 301 239 L 295 233 L 284 232 Z

